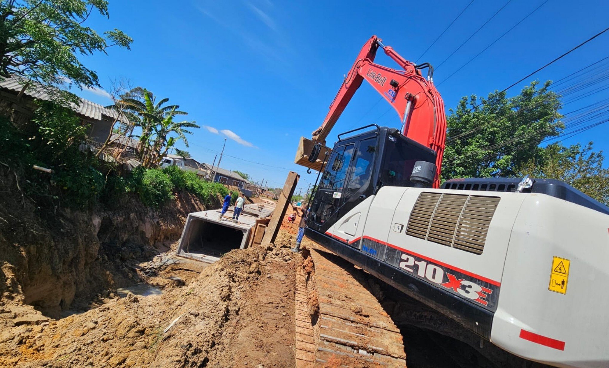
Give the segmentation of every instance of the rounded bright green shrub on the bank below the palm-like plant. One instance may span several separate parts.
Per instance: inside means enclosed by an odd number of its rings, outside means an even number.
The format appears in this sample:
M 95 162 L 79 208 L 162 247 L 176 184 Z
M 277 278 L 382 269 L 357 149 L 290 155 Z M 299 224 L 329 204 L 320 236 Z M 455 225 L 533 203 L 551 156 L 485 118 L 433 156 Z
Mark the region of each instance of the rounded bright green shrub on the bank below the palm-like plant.
M 174 185 L 167 174 L 159 169 L 135 172 L 136 192 L 139 200 L 150 207 L 160 207 L 174 198 Z

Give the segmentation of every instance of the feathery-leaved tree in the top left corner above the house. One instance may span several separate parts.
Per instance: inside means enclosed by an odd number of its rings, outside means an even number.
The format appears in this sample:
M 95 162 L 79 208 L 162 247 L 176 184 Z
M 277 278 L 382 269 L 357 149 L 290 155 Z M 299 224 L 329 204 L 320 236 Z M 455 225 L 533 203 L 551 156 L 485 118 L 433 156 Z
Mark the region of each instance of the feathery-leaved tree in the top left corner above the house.
M 43 85 L 99 86 L 97 74 L 78 55 L 129 49 L 132 38 L 114 29 L 97 34 L 83 23 L 93 11 L 108 15 L 105 0 L 2 0 L 0 76 L 18 75 Z

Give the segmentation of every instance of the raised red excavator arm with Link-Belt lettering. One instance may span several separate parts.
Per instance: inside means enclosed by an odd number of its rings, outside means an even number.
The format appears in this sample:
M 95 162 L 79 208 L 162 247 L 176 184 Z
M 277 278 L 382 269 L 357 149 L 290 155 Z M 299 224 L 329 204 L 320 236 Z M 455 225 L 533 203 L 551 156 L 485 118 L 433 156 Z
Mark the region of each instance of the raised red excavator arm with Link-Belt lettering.
M 382 48 L 385 54 L 392 58 L 403 70 L 387 68 L 374 63 L 376 51 Z M 429 68 L 428 78 L 423 77 L 421 69 Z M 372 36 L 357 55 L 351 70 L 345 77 L 334 101 L 329 107 L 328 115 L 322 126 L 312 133 L 312 139 L 301 138 L 295 163 L 308 168 L 320 170 L 323 155 L 315 162 L 309 162 L 308 155 L 315 144 L 325 147 L 329 132 L 340 118 L 351 98 L 367 80 L 376 91 L 389 102 L 400 117 L 401 129 L 404 136 L 428 146 L 437 152 L 437 173 L 434 187 L 440 184 L 440 168 L 446 140 L 446 116 L 444 102 L 434 87 L 433 68 L 428 63 L 415 65 L 401 57 L 390 46 L 382 44 L 381 40 Z

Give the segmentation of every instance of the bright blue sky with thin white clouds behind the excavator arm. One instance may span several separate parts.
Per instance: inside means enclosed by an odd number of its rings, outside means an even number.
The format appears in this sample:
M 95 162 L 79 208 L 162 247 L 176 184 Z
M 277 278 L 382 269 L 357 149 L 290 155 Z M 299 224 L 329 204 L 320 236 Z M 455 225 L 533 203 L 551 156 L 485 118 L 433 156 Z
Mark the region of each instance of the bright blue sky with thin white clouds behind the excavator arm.
M 493 44 L 545 0 L 512 0 L 484 29 L 446 60 L 434 74 L 448 108 L 460 97 L 502 90 L 609 25 L 609 4 L 551 0 Z M 287 169 L 299 172 L 299 188 L 315 181 L 315 172 L 294 164 L 300 136 L 311 135 L 323 121 L 343 74 L 359 49 L 376 34 L 408 60 L 415 61 L 470 0 L 460 1 L 276 1 L 110 0 L 110 20 L 90 19 L 98 31 L 119 28 L 134 42 L 131 51 L 110 48 L 83 62 L 97 71 L 102 88 L 125 77 L 160 97 L 169 97 L 202 126 L 189 137 L 189 152 L 211 163 L 227 138 L 221 166 L 247 172 L 254 181 L 283 186 Z M 439 65 L 507 0 L 474 0 L 463 15 L 420 60 Z M 557 80 L 609 56 L 609 32 L 530 79 Z M 378 52 L 376 62 L 396 66 Z M 606 68 L 605 68 L 606 69 Z M 604 70 L 605 70 L 604 69 Z M 526 82 L 529 82 L 527 80 Z M 509 90 L 517 94 L 522 82 Z M 607 82 L 595 88 L 608 87 Z M 78 92 L 107 105 L 103 90 Z M 599 91 L 566 106 L 563 112 L 602 101 Z M 575 98 L 575 97 L 571 97 Z M 328 138 L 371 122 L 399 127 L 389 104 L 365 82 Z M 567 101 L 565 101 L 567 102 Z M 205 127 L 203 127 L 205 126 Z M 565 140 L 593 140 L 609 151 L 609 124 Z M 184 148 L 183 145 L 178 145 Z

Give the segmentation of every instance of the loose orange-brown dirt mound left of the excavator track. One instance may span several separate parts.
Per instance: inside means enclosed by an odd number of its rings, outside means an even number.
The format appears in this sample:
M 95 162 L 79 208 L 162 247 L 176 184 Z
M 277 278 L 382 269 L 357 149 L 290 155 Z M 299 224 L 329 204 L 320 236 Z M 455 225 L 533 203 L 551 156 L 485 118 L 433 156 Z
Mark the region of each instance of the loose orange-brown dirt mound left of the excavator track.
M 292 255 L 233 250 L 165 294 L 129 294 L 60 320 L 2 307 L 0 366 L 294 366 Z

